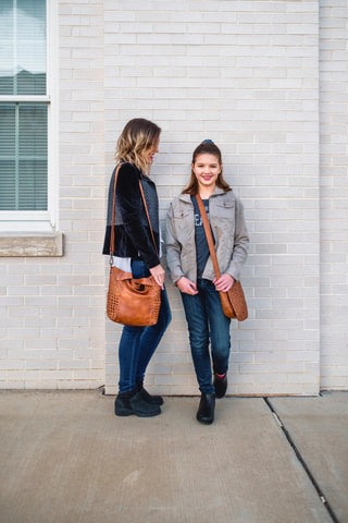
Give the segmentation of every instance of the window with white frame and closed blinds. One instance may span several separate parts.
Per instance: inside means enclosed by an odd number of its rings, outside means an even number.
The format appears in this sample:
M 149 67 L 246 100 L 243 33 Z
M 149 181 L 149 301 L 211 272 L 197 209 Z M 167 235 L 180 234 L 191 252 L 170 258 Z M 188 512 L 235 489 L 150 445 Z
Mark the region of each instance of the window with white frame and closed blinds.
M 0 1 L 0 231 L 54 228 L 46 4 Z

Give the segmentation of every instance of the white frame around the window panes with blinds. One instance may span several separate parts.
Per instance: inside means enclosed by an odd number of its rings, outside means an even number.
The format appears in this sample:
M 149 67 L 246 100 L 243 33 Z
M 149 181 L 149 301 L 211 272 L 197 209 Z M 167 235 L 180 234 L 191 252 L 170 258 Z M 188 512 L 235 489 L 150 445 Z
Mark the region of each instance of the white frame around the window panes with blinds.
M 59 231 L 59 141 L 58 141 L 58 77 L 59 77 L 59 13 L 58 2 L 46 0 L 46 95 L 11 96 L 1 95 L 0 102 L 36 102 L 47 105 L 47 210 L 1 210 L 0 234 L 21 233 L 54 233 Z

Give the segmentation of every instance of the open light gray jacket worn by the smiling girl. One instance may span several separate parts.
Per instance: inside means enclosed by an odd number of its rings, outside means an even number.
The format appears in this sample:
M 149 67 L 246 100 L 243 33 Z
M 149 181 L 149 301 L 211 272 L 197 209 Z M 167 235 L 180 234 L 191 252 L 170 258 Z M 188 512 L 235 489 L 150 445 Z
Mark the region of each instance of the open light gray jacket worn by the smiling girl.
M 209 198 L 210 224 L 221 273 L 239 280 L 247 259 L 249 236 L 244 219 L 244 207 L 233 191 L 224 193 L 215 187 Z M 166 263 L 174 283 L 183 276 L 197 282 L 194 204 L 189 194 L 181 194 L 166 216 Z M 209 256 L 202 278 L 215 278 Z

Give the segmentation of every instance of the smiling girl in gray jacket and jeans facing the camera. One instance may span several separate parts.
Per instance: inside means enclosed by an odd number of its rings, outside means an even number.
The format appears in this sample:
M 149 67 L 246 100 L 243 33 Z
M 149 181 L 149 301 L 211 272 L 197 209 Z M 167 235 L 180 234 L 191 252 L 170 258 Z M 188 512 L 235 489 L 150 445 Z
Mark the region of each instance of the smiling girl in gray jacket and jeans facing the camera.
M 196 200 L 198 194 L 212 229 L 222 275 L 219 279 Z M 181 291 L 188 324 L 201 392 L 197 412 L 200 423 L 213 422 L 215 398 L 226 393 L 231 320 L 223 313 L 217 291 L 228 291 L 238 280 L 248 244 L 243 204 L 223 179 L 219 147 L 207 139 L 195 149 L 189 184 L 172 202 L 166 220 L 166 260 L 171 278 Z

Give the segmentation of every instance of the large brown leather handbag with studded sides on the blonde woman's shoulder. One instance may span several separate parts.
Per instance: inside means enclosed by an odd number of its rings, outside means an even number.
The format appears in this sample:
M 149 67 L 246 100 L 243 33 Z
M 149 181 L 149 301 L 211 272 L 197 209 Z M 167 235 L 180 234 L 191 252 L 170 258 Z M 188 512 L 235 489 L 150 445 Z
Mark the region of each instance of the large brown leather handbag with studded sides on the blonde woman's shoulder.
M 116 206 L 116 182 L 121 165 L 117 167 L 114 180 L 112 226 L 110 240 L 110 278 L 107 300 L 107 315 L 116 324 L 144 327 L 156 325 L 161 306 L 161 288 L 152 276 L 148 278 L 133 278 L 132 272 L 125 272 L 112 267 L 114 252 L 114 228 Z M 157 251 L 153 231 L 146 205 L 142 186 L 139 181 L 141 198 L 150 226 L 153 245 Z

